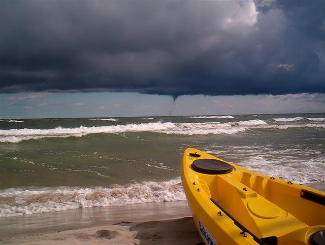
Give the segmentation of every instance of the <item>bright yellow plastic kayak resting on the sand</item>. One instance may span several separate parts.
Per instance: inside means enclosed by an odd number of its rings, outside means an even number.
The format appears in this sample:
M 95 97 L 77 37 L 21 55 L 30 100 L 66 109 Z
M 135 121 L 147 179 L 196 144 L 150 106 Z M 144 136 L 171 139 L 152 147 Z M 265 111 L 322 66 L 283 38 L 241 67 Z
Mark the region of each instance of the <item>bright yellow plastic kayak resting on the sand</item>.
M 325 244 L 325 192 L 192 148 L 181 165 L 193 220 L 206 244 Z

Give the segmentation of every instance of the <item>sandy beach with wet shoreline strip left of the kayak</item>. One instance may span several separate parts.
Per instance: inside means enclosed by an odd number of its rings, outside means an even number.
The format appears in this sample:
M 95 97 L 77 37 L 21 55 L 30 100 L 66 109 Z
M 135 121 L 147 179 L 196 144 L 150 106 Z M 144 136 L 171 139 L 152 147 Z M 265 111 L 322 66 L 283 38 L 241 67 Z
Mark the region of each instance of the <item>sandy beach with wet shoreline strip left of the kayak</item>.
M 186 201 L 80 208 L 1 219 L 2 244 L 198 244 Z

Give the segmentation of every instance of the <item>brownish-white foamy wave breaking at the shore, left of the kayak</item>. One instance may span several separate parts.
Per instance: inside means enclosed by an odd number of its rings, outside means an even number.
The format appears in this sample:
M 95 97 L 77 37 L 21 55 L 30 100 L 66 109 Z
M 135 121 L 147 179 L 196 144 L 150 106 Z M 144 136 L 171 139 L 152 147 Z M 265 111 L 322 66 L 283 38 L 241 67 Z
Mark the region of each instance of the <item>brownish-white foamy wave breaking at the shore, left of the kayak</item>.
M 6 189 L 0 196 L 0 216 L 18 216 L 75 208 L 185 200 L 180 178 L 126 186 L 96 188 Z

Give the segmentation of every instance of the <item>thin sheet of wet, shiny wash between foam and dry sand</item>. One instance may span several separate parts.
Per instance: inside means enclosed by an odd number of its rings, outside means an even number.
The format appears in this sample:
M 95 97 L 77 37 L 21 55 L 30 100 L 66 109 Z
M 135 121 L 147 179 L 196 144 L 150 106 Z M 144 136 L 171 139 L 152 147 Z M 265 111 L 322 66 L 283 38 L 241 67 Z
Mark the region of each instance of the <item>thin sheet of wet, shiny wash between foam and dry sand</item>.
M 184 216 L 191 216 L 186 201 L 78 208 L 62 212 L 2 218 L 0 236 L 26 236 L 45 232 L 108 226 L 121 221 L 135 223 L 175 219 Z

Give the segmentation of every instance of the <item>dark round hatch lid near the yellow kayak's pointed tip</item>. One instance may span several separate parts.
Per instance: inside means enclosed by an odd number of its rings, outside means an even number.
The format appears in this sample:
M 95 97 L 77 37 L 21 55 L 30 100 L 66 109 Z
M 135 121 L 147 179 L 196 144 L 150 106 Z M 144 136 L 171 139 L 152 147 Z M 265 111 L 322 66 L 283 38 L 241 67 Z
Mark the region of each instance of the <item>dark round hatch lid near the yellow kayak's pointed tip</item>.
M 192 168 L 197 172 L 208 174 L 223 174 L 233 170 L 232 166 L 216 159 L 198 159 L 192 162 Z

